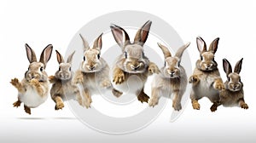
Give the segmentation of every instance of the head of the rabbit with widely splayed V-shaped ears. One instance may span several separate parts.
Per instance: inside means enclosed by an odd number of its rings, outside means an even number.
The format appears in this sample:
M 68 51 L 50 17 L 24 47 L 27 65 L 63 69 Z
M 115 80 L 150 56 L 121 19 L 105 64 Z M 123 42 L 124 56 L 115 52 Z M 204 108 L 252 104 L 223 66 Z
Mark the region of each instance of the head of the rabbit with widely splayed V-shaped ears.
M 181 48 L 177 49 L 176 54 L 172 56 L 170 50 L 166 46 L 158 43 L 158 46 L 165 55 L 165 66 L 162 68 L 162 74 L 164 75 L 164 77 L 180 77 L 180 62 L 182 59 L 183 52 L 185 49 L 189 47 L 189 44 L 190 43 L 187 43 L 183 45 Z

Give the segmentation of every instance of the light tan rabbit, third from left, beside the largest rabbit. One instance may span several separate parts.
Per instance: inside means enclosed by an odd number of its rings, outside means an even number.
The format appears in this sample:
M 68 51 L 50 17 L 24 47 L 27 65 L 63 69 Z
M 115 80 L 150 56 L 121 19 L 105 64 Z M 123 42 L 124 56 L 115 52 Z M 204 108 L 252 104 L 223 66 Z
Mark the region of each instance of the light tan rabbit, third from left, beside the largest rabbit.
M 79 35 L 84 45 L 84 60 L 75 73 L 73 82 L 83 86 L 82 99 L 79 100 L 79 103 L 86 108 L 89 108 L 92 102 L 91 94 L 98 94 L 96 92 L 98 90 L 112 89 L 112 93 L 116 97 L 122 94 L 113 89 L 108 63 L 101 57 L 102 34 L 96 38 L 92 48 L 89 47 L 84 37 Z

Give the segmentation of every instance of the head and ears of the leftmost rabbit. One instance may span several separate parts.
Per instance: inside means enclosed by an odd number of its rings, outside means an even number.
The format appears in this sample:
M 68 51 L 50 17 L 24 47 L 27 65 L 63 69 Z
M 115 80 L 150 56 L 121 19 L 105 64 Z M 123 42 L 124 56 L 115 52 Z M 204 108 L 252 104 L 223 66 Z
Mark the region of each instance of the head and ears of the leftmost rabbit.
M 50 59 L 53 46 L 49 44 L 43 50 L 40 60 L 37 61 L 37 57 L 35 52 L 29 47 L 26 43 L 26 56 L 30 65 L 28 66 L 28 70 L 25 73 L 25 77 L 27 81 L 31 81 L 32 79 L 37 79 L 39 82 L 44 82 L 48 80 L 47 73 L 44 71 L 47 62 Z

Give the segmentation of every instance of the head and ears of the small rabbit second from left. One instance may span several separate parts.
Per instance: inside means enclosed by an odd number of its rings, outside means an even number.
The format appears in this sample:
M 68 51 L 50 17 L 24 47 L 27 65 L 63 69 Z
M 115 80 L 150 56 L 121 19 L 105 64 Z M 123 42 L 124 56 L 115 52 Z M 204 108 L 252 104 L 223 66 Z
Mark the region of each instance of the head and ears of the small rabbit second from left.
M 55 77 L 61 80 L 70 80 L 73 77 L 73 72 L 72 72 L 72 59 L 73 59 L 73 54 L 75 51 L 73 51 L 72 54 L 70 54 L 67 58 L 67 62 L 64 61 L 63 56 L 57 51 L 57 60 L 59 62 L 59 71 L 55 72 Z

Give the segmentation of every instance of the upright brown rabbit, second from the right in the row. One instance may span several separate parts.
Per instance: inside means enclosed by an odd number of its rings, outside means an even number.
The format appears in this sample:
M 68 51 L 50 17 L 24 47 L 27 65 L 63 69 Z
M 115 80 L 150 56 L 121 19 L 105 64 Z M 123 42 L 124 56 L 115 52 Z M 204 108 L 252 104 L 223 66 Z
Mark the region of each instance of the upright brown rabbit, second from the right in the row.
M 200 110 L 198 100 L 207 97 L 213 103 L 210 108 L 213 112 L 219 104 L 219 91 L 224 89 L 224 83 L 218 72 L 218 63 L 214 60 L 214 54 L 218 49 L 218 40 L 219 38 L 214 39 L 207 50 L 205 41 L 201 37 L 196 38 L 201 59 L 196 61 L 195 71 L 189 77 L 189 83 L 192 83 L 190 99 L 196 110 Z

